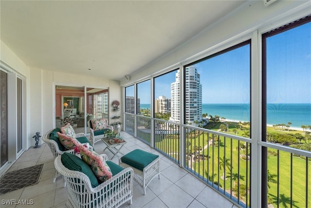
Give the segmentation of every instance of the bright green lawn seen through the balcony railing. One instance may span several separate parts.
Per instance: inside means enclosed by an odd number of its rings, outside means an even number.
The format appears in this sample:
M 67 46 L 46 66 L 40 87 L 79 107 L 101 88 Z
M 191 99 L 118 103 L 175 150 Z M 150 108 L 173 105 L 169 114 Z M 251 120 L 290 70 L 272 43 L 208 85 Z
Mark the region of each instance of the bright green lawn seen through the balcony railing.
M 215 130 L 219 128 L 219 126 L 214 127 Z M 237 132 L 233 132 L 233 129 L 236 129 Z M 289 131 L 285 130 L 275 130 L 272 127 L 267 128 L 268 132 L 284 132 L 288 133 Z M 296 133 L 301 131 L 290 131 L 291 133 Z M 240 135 L 242 136 L 245 134 L 245 130 L 239 130 L 236 128 L 236 124 L 233 122 L 229 123 L 229 132 L 230 134 Z M 176 135 L 174 135 L 176 136 Z M 246 161 L 245 159 L 241 159 L 240 155 L 242 151 L 238 152 L 238 141 L 232 140 L 230 138 L 224 139 L 224 137 L 220 136 L 220 146 L 218 145 L 209 145 L 208 148 L 203 150 L 203 147 L 207 147 L 207 133 L 200 134 L 199 136 L 196 134 L 195 136 L 192 135 L 186 138 L 186 146 L 187 144 L 188 149 L 194 152 L 195 146 L 201 147 L 202 151 L 200 154 L 209 155 L 209 158 L 205 157 L 200 159 L 200 162 L 196 162 L 195 159 L 192 160 L 192 168 L 201 175 L 201 178 L 207 178 L 205 174 L 205 170 L 208 170 L 209 176 L 212 176 L 214 173 L 214 182 L 218 182 L 222 189 L 225 189 L 227 192 L 230 193 L 230 189 L 234 188 L 237 184 L 235 178 L 233 177 L 231 182 L 231 175 L 229 174 L 229 169 L 226 168 L 226 180 L 222 178 L 223 176 L 223 169 L 219 170 L 218 162 L 220 158 L 225 157 L 230 159 L 229 163 L 232 163 L 232 174 L 233 176 L 237 176 L 238 167 L 240 166 L 240 196 L 246 191 L 246 185 L 249 189 L 249 182 L 250 182 L 250 162 Z M 171 137 L 169 138 L 168 135 L 158 135 L 156 136 L 156 148 L 160 149 L 163 152 L 168 153 L 172 157 L 178 160 L 178 152 L 179 152 L 179 138 Z M 232 143 L 231 143 L 232 142 Z M 217 142 L 216 142 L 217 143 Z M 244 144 L 244 142 L 240 142 Z M 232 145 L 232 148 L 231 148 Z M 232 152 L 231 152 L 232 149 Z M 277 156 L 275 153 L 276 150 L 269 149 L 269 156 L 268 156 L 268 170 L 272 175 L 277 175 Z M 176 153 L 176 154 L 172 154 Z M 239 155 L 240 153 L 240 155 Z M 232 157 L 231 157 L 232 154 Z M 187 162 L 187 161 L 186 161 Z M 187 162 L 188 164 L 188 162 Z M 291 179 L 291 157 L 290 153 L 279 151 L 279 200 L 280 200 L 280 207 L 290 207 L 290 179 Z M 246 166 L 248 167 L 248 172 L 246 173 Z M 214 169 L 213 169 L 214 168 Z M 212 172 L 214 170 L 214 172 Z M 299 157 L 293 156 L 293 207 L 306 207 L 306 160 L 301 159 Z M 311 172 L 311 161 L 308 162 L 308 172 L 310 175 Z M 248 174 L 248 175 L 247 175 Z M 236 177 L 237 178 L 237 177 Z M 277 177 L 274 177 L 277 180 Z M 308 196 L 308 207 L 311 207 L 311 177 L 309 176 L 309 196 Z M 247 182 L 247 184 L 246 184 Z M 231 187 L 232 183 L 232 187 Z M 268 190 L 269 201 L 273 204 L 274 207 L 276 205 L 276 196 L 277 196 L 277 184 L 276 183 L 269 183 L 270 189 Z M 232 192 L 234 195 L 235 192 Z M 234 195 L 235 196 L 235 195 Z M 240 197 L 240 200 L 245 202 L 245 198 L 243 196 Z M 249 200 L 249 197 L 248 197 Z M 249 204 L 249 201 L 247 202 Z

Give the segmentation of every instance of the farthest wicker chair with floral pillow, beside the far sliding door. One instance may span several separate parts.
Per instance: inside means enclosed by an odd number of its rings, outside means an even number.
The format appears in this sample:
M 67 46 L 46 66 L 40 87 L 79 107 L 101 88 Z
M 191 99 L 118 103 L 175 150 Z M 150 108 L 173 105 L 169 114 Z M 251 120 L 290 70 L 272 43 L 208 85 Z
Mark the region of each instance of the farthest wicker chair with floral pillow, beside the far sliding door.
M 96 129 L 94 127 L 94 123 L 98 120 L 101 120 L 103 122 L 104 127 L 102 129 Z M 92 119 L 87 121 L 87 126 L 90 131 L 90 136 L 89 136 L 89 141 L 91 142 L 92 145 L 94 145 L 96 142 L 101 141 L 102 138 L 104 138 L 104 133 L 107 130 L 113 131 L 113 127 L 108 125 L 108 120 L 105 118 L 100 118 L 100 119 Z

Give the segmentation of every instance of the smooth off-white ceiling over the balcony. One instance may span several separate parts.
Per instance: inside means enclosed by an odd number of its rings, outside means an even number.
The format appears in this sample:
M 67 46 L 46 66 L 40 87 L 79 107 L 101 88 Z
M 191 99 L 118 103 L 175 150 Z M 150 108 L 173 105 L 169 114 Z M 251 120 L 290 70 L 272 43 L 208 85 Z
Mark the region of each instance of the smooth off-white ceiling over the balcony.
M 0 38 L 31 68 L 121 80 L 244 2 L 0 0 Z

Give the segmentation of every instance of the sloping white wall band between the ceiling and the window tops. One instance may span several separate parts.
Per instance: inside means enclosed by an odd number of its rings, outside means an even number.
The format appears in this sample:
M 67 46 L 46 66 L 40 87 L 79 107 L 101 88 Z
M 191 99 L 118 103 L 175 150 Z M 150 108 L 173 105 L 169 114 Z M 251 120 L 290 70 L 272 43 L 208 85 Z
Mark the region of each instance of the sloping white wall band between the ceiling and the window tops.
M 152 75 L 161 73 L 161 71 L 176 69 L 179 67 L 179 63 L 184 65 L 206 57 L 224 49 L 221 46 L 230 41 L 242 42 L 247 40 L 252 32 L 257 29 L 276 28 L 287 23 L 286 21 L 289 18 L 299 19 L 310 13 L 310 0 L 276 0 L 267 7 L 264 6 L 262 0 L 248 1 L 242 7 L 207 27 L 194 38 L 148 66 L 139 69 L 138 73 L 131 75 L 131 80 L 128 81 L 123 78 L 121 86 L 130 85 L 136 80 L 141 81 L 150 78 Z

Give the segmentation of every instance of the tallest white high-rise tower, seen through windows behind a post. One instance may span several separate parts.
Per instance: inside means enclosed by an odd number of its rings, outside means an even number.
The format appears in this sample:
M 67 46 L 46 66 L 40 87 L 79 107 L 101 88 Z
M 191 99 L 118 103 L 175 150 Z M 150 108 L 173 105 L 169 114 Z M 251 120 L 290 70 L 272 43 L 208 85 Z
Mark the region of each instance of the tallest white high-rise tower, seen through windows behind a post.
M 180 121 L 180 96 L 179 96 L 179 70 L 175 76 L 175 82 L 171 84 L 171 117 L 170 120 L 174 122 Z M 194 66 L 186 67 L 185 76 L 185 109 L 186 109 L 186 123 L 194 125 L 194 121 L 202 119 L 202 84 L 200 83 L 200 74 Z

